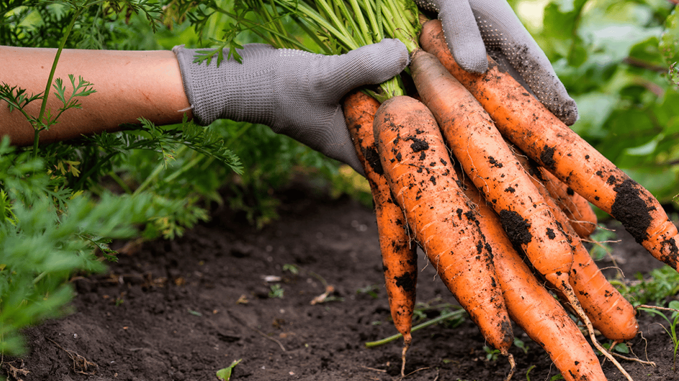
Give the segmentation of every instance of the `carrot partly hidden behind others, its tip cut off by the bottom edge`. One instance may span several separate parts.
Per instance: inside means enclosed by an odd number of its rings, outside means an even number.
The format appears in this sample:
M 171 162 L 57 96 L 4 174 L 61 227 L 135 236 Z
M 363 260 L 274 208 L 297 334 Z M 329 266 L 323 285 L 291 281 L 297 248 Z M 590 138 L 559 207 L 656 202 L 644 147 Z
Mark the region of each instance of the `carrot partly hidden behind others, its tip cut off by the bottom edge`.
M 566 310 L 532 275 L 502 230 L 502 224 L 473 184 L 464 193 L 477 205 L 479 226 L 492 247 L 509 317 L 540 344 L 565 380 L 606 380 L 594 351 Z

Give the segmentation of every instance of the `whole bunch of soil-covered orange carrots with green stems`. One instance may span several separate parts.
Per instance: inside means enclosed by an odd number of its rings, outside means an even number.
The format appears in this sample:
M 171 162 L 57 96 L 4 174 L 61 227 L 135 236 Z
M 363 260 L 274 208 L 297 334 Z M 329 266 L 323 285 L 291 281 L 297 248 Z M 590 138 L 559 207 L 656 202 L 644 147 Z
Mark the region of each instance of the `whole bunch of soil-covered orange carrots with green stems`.
M 597 224 L 593 203 L 655 258 L 677 268 L 679 233 L 655 197 L 492 58 L 484 74 L 462 70 L 440 22 L 420 27 L 409 0 L 377 1 L 381 8 L 373 0 L 351 0 L 344 9 L 337 5 L 342 1 L 328 8 L 323 3 L 304 8 L 312 19 L 330 20 L 318 30 L 343 33 L 344 27 L 344 38 L 371 25 L 378 31 L 373 39 L 399 38 L 411 53 L 414 94 L 406 95 L 394 79 L 344 100 L 373 193 L 392 318 L 404 338 L 401 373 L 411 343 L 419 246 L 485 340 L 512 365 L 513 321 L 545 348 L 566 380 L 606 380 L 592 346 L 631 380 L 598 343 L 595 329 L 614 342 L 630 340 L 638 332 L 636 311 L 608 283 L 582 239 Z M 354 12 L 352 20 L 333 21 L 338 7 Z M 378 8 L 379 18 L 354 21 Z M 388 27 L 375 25 L 379 19 Z M 363 35 L 363 45 L 373 42 L 371 33 Z M 591 344 L 569 312 L 585 325 Z

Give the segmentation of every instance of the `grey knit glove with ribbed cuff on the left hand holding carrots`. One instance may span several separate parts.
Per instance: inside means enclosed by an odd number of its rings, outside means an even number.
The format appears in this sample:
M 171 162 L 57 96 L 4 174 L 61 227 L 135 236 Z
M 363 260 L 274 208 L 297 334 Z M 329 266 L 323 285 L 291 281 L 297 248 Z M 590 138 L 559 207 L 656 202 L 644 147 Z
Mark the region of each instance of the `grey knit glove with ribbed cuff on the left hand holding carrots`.
M 176 46 L 172 51 L 197 123 L 225 118 L 268 125 L 360 174 L 363 168 L 339 101 L 355 87 L 394 77 L 409 60 L 405 45 L 394 39 L 342 56 L 249 44 L 238 49 L 242 64 L 231 58 L 219 67 L 217 60 L 194 63 L 194 49 Z

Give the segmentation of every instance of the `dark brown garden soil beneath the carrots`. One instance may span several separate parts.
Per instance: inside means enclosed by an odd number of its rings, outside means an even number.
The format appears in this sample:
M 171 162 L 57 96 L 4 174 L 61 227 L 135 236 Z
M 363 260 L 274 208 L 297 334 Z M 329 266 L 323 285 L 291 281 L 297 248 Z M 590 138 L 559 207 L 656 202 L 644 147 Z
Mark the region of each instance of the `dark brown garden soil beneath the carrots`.
M 30 354 L 9 364 L 30 371 L 20 376 L 26 381 L 217 380 L 217 369 L 237 359 L 242 362 L 232 380 L 397 379 L 400 342 L 363 346 L 395 333 L 381 286 L 373 213 L 356 201 L 307 190 L 282 198 L 280 220 L 261 231 L 217 209 L 213 220 L 184 237 L 144 243 L 121 255 L 107 275 L 75 280 L 75 313 L 27 329 Z M 623 238 L 614 256 L 625 275 L 659 265 Z M 291 274 L 286 264 L 301 272 Z M 420 257 L 418 301 L 454 302 L 425 264 Z M 281 279 L 267 282 L 267 275 Z M 342 300 L 310 304 L 324 292 L 319 277 Z M 269 296 L 276 284 L 282 298 Z M 357 293 L 365 287 L 376 289 L 376 298 Z M 642 317 L 648 341 L 637 336 L 632 342 L 640 357 L 658 366 L 623 362 L 636 380 L 676 377 L 672 342 L 659 321 Z M 513 348 L 514 380 L 526 380 L 533 366 L 530 380 L 557 374 L 540 347 L 519 329 L 515 334 L 528 353 Z M 502 380 L 507 361 L 484 359 L 483 340 L 469 320 L 457 327 L 434 325 L 414 334 L 406 372 L 424 369 L 407 379 Z M 3 369 L 10 366 L 5 362 Z M 623 380 L 609 363 L 604 369 L 609 380 Z

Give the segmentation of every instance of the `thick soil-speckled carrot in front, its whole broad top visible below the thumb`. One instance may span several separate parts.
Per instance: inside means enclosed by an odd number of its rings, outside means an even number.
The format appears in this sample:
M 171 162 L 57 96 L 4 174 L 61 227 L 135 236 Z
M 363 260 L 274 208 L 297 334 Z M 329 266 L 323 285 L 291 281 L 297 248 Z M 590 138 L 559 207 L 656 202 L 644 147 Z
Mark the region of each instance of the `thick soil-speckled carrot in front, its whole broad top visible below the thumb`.
M 485 339 L 508 355 L 511 321 L 492 258 L 433 115 L 397 96 L 380 106 L 373 128 L 384 176 L 416 241 Z

